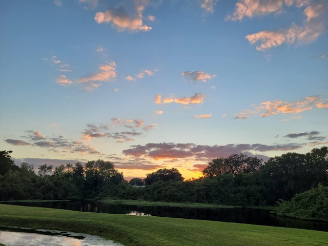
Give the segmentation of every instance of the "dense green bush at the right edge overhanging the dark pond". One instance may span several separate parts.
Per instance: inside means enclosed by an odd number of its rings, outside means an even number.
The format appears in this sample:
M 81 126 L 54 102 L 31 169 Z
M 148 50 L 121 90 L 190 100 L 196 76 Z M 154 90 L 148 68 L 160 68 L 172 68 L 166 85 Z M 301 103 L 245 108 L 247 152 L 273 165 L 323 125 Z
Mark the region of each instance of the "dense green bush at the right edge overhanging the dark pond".
M 328 187 L 319 185 L 297 194 L 290 201 L 281 201 L 275 209 L 281 216 L 328 221 Z

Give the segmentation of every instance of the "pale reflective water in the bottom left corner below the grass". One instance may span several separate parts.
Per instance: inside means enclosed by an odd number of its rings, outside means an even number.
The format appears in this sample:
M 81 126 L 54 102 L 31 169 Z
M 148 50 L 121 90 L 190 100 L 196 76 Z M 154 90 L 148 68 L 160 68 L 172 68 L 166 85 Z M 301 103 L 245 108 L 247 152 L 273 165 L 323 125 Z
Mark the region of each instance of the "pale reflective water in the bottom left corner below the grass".
M 0 242 L 6 246 L 122 246 L 111 240 L 81 233 L 1 226 Z

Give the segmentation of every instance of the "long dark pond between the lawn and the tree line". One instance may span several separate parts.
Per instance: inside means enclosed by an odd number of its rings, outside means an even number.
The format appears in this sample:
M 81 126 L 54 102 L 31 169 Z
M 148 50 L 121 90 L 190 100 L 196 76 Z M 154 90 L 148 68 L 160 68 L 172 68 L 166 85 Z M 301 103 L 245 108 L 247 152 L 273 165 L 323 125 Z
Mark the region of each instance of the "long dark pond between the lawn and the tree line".
M 8 202 L 7 202 L 8 203 Z M 14 202 L 21 206 L 67 209 L 82 212 L 160 216 L 185 219 L 203 219 L 263 226 L 290 227 L 328 232 L 328 222 L 283 218 L 270 211 L 250 208 L 182 208 L 164 206 L 132 206 L 93 201 Z

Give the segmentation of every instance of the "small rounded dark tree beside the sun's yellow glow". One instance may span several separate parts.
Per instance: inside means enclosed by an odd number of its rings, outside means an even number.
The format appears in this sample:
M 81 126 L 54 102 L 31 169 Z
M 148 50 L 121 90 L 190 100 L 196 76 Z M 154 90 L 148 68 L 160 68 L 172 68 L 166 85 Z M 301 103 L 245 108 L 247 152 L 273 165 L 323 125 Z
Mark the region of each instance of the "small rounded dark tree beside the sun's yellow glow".
M 173 181 L 183 181 L 183 177 L 176 168 L 171 169 L 159 169 L 156 172 L 147 174 L 145 178 L 146 185 L 151 185 L 154 182 L 162 180 L 164 182 Z

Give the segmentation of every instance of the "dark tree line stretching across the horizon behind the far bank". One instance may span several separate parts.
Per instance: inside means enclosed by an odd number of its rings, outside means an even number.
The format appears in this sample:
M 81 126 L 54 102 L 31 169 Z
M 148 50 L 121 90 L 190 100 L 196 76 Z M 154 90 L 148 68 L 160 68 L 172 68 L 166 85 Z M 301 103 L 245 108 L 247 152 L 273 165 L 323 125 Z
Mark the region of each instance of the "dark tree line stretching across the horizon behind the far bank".
M 0 200 L 112 198 L 267 206 L 291 200 L 319 184 L 328 186 L 327 147 L 306 154 L 282 154 L 265 163 L 257 157 L 233 154 L 213 159 L 198 179 L 184 180 L 171 168 L 129 182 L 111 161 L 56 168 L 45 164 L 35 173 L 29 163 L 16 166 L 10 154 L 0 152 Z

